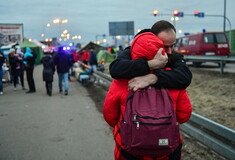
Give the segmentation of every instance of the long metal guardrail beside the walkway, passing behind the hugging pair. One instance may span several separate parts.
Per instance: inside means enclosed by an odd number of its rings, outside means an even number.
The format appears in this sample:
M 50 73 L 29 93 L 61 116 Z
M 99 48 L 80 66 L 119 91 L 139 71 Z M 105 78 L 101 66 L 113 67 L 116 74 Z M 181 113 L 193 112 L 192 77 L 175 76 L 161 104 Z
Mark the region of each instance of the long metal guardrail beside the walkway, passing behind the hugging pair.
M 94 76 L 102 79 L 101 84 L 108 87 L 112 81 L 110 75 L 95 71 Z M 235 158 L 235 131 L 196 113 L 193 113 L 181 129 L 227 159 Z

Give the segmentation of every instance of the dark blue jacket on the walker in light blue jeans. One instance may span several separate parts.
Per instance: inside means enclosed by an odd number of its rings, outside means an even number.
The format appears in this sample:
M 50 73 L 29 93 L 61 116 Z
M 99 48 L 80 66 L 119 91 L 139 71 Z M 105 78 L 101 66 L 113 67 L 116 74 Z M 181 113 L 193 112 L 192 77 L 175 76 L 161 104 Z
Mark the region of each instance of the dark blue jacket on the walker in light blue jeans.
M 54 57 L 54 64 L 58 73 L 67 73 L 71 66 L 71 56 L 69 53 L 59 50 Z

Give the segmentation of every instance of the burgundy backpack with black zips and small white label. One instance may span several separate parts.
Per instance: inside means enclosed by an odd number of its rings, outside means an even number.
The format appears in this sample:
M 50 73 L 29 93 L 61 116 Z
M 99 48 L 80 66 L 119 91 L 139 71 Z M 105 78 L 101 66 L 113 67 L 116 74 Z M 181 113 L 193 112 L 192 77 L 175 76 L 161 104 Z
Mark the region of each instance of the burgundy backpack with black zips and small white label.
M 179 124 L 167 89 L 155 87 L 130 91 L 120 134 L 126 152 L 159 157 L 180 145 Z

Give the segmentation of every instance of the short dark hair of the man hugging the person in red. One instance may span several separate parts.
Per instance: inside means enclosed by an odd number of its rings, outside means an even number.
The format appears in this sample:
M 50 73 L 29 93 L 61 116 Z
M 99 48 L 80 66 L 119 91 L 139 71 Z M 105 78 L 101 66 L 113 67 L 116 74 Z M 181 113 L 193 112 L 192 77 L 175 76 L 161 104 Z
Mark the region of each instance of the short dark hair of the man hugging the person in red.
M 169 31 L 171 29 L 173 29 L 176 32 L 175 27 L 170 22 L 161 20 L 153 24 L 151 32 L 154 33 L 155 35 L 158 35 L 158 33 L 162 31 Z

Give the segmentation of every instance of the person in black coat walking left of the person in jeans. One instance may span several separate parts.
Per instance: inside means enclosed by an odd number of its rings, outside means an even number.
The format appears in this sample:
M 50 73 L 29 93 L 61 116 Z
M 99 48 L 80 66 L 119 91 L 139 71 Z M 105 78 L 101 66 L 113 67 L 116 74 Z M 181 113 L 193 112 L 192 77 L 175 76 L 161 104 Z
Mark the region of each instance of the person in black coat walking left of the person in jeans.
M 42 77 L 45 81 L 47 94 L 52 95 L 53 75 L 55 73 L 55 65 L 50 53 L 45 53 L 40 62 L 43 64 Z

